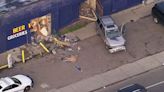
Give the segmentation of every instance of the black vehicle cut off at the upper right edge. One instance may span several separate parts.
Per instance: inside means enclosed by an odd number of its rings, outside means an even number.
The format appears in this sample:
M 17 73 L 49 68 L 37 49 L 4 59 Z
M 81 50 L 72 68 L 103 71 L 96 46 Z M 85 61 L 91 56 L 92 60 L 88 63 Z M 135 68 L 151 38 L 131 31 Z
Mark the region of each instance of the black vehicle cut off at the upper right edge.
M 164 24 L 164 1 L 154 5 L 152 8 L 152 16 L 155 23 Z

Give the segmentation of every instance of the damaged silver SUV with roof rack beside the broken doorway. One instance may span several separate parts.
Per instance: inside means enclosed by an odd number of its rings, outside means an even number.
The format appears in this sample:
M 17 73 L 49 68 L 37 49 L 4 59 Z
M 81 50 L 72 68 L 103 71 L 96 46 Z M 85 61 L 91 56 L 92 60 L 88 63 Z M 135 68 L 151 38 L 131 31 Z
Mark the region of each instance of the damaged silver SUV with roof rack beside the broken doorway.
M 126 50 L 122 32 L 110 16 L 97 19 L 97 34 L 104 40 L 110 53 Z

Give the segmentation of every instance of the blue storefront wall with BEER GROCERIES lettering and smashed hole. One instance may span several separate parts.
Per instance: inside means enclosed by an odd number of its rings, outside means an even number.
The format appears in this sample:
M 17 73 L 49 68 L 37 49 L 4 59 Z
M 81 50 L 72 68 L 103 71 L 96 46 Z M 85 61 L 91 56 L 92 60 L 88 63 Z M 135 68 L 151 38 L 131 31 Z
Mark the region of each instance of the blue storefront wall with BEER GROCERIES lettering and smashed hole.
M 79 18 L 83 0 L 0 1 L 0 53 L 44 39 Z

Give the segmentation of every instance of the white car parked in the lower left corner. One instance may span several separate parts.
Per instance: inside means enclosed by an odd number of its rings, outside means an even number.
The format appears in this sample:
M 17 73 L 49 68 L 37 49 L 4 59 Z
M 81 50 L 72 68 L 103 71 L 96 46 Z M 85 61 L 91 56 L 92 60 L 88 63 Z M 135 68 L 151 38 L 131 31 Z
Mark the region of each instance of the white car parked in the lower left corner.
M 25 75 L 15 75 L 0 79 L 0 92 L 27 92 L 32 86 L 32 79 Z

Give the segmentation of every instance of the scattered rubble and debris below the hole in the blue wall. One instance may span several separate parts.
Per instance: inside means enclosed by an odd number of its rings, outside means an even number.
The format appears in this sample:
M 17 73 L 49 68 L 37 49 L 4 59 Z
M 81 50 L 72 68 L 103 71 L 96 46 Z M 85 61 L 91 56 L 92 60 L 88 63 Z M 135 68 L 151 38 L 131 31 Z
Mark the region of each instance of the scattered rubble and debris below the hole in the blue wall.
M 35 38 L 33 38 L 32 41 L 33 42 L 31 44 L 23 45 L 8 52 L 12 54 L 13 60 L 15 62 L 22 61 L 22 50 L 24 50 L 24 59 L 26 61 L 32 58 L 40 58 L 46 55 L 47 52 L 50 52 L 49 54 L 54 55 L 54 61 L 64 61 L 70 63 L 75 63 L 78 61 L 79 51 L 81 50 L 81 47 L 78 44 L 78 41 L 80 41 L 80 39 L 76 36 L 48 36 L 45 40 L 41 41 L 44 46 L 40 46 L 40 42 Z M 12 65 L 10 64 L 9 67 L 12 67 Z M 79 67 L 76 68 L 81 70 L 81 68 Z

